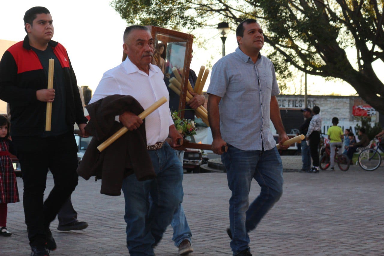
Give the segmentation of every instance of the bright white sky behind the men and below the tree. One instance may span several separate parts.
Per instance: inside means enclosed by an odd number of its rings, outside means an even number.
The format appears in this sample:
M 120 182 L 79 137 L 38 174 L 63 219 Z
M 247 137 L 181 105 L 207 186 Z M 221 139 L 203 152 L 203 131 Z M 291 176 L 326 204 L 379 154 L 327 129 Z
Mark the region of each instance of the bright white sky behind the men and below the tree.
M 44 6 L 50 10 L 55 34 L 53 40 L 63 44 L 71 59 L 78 85 L 88 85 L 95 90 L 103 73 L 121 62 L 122 34 L 126 22 L 109 5 L 111 0 L 13 0 L 2 1 L 0 10 L 0 39 L 21 41 L 25 37 L 23 16 L 25 11 L 34 6 Z M 150 25 L 150 24 L 149 24 Z M 194 48 L 191 68 L 199 71 L 201 65 L 211 62 L 212 65 L 222 56 L 222 42 L 215 28 L 192 32 L 197 37 L 206 37 L 208 50 Z M 228 34 L 225 43 L 226 53 L 237 48 L 235 33 Z M 266 45 L 265 45 L 266 47 Z M 376 70 L 384 70 L 378 63 Z M 290 93 L 300 94 L 300 73 L 291 86 Z M 384 81 L 383 72 L 377 72 Z M 348 83 L 329 81 L 308 76 L 308 94 L 325 95 L 337 93 L 353 95 L 356 91 Z M 204 91 L 207 90 L 207 80 Z M 289 92 L 286 92 L 289 93 Z M 304 78 L 302 80 L 304 94 Z

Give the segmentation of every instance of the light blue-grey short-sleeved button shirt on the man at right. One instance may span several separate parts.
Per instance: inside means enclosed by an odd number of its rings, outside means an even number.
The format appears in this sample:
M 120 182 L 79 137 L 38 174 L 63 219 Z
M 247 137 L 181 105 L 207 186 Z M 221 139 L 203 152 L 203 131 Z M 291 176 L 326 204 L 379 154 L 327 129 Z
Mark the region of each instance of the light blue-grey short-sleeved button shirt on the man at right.
M 207 93 L 221 97 L 220 132 L 225 142 L 241 150 L 276 146 L 270 131 L 270 102 L 280 90 L 268 58 L 259 54 L 253 63 L 237 48 L 213 66 Z

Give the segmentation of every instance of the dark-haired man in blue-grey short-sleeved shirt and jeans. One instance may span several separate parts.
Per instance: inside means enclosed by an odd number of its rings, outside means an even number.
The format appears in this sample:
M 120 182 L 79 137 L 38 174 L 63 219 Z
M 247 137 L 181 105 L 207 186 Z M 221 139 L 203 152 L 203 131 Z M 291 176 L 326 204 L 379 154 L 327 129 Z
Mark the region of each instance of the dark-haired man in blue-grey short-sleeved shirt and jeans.
M 222 155 L 227 169 L 230 198 L 228 235 L 233 255 L 252 255 L 248 232 L 283 193 L 283 166 L 270 130 L 270 120 L 280 145 L 288 136 L 280 117 L 276 96 L 280 93 L 272 62 L 260 54 L 263 30 L 256 20 L 240 23 L 236 30 L 239 47 L 212 68 L 207 93 L 212 130 L 212 150 Z M 223 145 L 228 151 L 221 150 Z M 286 149 L 286 146 L 282 146 Z M 260 195 L 248 207 L 252 178 Z

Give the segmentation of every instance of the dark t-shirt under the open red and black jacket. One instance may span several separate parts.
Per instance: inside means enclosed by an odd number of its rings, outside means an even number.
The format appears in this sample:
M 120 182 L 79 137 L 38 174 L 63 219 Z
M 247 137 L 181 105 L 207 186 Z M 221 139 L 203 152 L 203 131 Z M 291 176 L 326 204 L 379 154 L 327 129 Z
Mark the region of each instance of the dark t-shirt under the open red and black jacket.
M 48 66 L 49 59 L 55 60 L 53 71 L 53 89 L 55 89 L 55 100 L 52 103 L 52 117 L 51 117 L 51 131 L 45 131 L 43 137 L 57 136 L 67 133 L 72 128 L 66 123 L 66 90 L 65 90 L 65 76 L 61 68 L 61 64 L 53 53 L 53 49 L 48 45 L 46 50 L 41 51 L 31 47 L 37 54 L 46 76 L 46 88 L 48 87 Z

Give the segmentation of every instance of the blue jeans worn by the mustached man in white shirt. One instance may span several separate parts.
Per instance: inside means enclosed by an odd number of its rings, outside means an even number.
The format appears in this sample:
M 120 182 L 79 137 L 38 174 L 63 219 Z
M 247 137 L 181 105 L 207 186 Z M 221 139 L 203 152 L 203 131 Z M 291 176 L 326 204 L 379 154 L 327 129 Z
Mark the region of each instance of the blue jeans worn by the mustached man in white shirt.
M 148 150 L 148 153 L 156 178 L 137 181 L 135 175 L 130 175 L 122 184 L 127 248 L 131 256 L 154 255 L 152 247 L 161 240 L 183 200 L 183 168 L 175 151 L 164 143 L 161 149 Z

